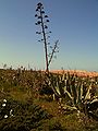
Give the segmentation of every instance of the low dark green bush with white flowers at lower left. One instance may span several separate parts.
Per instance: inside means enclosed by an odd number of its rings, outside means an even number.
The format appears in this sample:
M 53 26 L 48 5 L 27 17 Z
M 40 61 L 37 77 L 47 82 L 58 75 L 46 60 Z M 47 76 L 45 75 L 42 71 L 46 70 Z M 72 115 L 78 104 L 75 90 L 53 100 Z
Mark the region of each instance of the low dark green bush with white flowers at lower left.
M 30 131 L 47 118 L 46 111 L 30 103 L 13 99 L 0 102 L 0 131 Z

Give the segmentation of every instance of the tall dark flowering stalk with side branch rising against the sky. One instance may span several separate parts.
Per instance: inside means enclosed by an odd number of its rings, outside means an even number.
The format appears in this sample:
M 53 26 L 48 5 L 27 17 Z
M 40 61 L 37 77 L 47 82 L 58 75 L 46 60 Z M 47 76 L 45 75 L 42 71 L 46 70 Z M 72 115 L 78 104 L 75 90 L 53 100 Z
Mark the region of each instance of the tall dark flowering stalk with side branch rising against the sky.
M 41 31 L 36 32 L 36 34 L 42 35 L 42 39 L 40 39 L 38 41 L 44 41 L 45 57 L 46 57 L 46 71 L 49 72 L 49 66 L 51 63 L 53 55 L 54 55 L 54 52 L 58 51 L 57 48 L 58 48 L 59 40 L 56 41 L 53 47 L 50 46 L 50 48 L 52 48 L 52 51 L 50 53 L 48 53 L 48 45 L 50 45 L 50 43 L 48 41 L 48 38 L 50 37 L 49 34 L 51 32 L 48 32 L 47 23 L 49 23 L 49 19 L 48 19 L 48 15 L 45 14 L 42 3 L 39 2 L 37 4 L 36 12 L 37 12 L 37 14 L 35 14 L 35 17 L 37 17 L 37 22 L 35 24 L 41 26 Z

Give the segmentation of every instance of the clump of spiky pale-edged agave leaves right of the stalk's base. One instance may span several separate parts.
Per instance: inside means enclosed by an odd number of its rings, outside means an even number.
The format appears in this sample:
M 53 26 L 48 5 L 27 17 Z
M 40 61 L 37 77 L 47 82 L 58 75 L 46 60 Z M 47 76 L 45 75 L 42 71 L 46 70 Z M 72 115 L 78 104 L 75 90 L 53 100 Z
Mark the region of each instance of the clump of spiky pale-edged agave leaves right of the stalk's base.
M 91 102 L 95 96 L 93 82 L 88 78 L 78 78 L 69 72 L 62 75 L 49 73 L 48 82 L 53 91 L 53 96 L 60 99 L 60 103 L 61 99 L 69 97 L 69 100 L 63 104 L 63 108 L 66 109 L 70 102 L 71 109 L 73 107 L 75 110 L 87 112 L 87 108 L 89 108 L 87 103 Z

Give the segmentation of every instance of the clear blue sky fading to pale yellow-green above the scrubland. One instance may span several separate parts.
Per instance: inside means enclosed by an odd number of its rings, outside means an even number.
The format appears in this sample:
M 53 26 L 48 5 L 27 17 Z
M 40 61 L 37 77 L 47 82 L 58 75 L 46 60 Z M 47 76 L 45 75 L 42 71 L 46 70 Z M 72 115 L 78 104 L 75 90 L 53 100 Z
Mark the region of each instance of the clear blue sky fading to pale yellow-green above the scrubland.
M 59 39 L 50 69 L 98 71 L 98 0 L 0 0 L 0 68 L 46 69 L 38 2 L 49 16 L 48 40 L 53 46 Z

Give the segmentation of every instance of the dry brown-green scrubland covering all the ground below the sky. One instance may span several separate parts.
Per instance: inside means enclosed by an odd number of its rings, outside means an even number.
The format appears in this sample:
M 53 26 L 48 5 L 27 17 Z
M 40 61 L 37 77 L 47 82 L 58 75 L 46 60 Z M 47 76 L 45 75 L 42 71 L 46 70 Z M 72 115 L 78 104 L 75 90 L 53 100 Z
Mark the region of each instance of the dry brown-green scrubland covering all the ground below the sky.
M 0 131 L 98 131 L 98 73 L 0 69 Z

